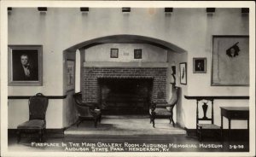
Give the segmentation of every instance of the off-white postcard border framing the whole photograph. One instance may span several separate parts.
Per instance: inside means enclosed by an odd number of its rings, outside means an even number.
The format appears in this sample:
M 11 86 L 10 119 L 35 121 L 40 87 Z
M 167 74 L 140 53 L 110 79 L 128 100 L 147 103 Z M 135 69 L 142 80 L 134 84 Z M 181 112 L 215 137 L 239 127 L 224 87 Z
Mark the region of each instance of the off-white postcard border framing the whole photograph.
M 8 152 L 7 145 L 7 128 L 8 128 L 8 26 L 7 26 L 7 8 L 8 7 L 58 7 L 58 8 L 72 8 L 88 6 L 90 8 L 249 8 L 249 35 L 250 35 L 250 152 L 249 153 L 203 153 L 203 152 L 178 152 L 178 153 L 129 153 L 129 156 L 253 156 L 255 155 L 255 3 L 253 1 L 218 1 L 218 2 L 145 2 L 145 1 L 1 1 L 1 155 L 3 156 L 123 156 L 128 153 L 74 153 L 74 152 Z

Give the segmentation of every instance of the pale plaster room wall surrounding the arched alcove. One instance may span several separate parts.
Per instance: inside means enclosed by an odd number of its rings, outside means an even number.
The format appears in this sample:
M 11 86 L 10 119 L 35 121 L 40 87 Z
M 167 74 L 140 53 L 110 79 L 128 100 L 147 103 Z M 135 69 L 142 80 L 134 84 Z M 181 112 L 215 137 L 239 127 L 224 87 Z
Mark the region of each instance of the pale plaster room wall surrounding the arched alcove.
M 40 15 L 37 8 L 14 8 L 8 20 L 9 44 L 43 45 L 44 72 L 43 86 L 9 86 L 9 96 L 31 96 L 38 91 L 47 96 L 66 94 L 63 88 L 63 50 L 93 38 L 116 34 L 158 38 L 186 49 L 188 84 L 182 87 L 187 88 L 183 93 L 188 96 L 249 94 L 249 87 L 213 87 L 210 84 L 212 35 L 248 35 L 248 16 L 241 15 L 241 9 L 216 9 L 214 15 L 207 16 L 205 9 L 180 8 L 174 9 L 171 16 L 166 16 L 164 9 L 132 9 L 129 15 L 124 15 L 120 9 L 91 8 L 87 15 L 83 15 L 79 8 L 49 8 L 46 15 Z M 207 73 L 193 73 L 193 57 L 207 57 Z M 20 119 L 26 119 L 26 113 L 20 115 L 16 110 L 24 110 L 27 104 L 24 102 L 24 106 L 19 106 L 18 103 L 20 100 L 9 101 L 9 127 L 15 128 Z M 65 108 L 63 103 L 59 100 L 49 102 L 52 108 L 48 108 L 47 116 L 57 117 L 49 122 L 52 124 L 49 127 L 63 127 L 59 122 Z M 234 103 L 223 100 L 216 104 L 233 106 Z M 239 105 L 247 105 L 247 101 Z M 183 117 L 183 124 L 187 128 L 195 128 L 195 102 L 183 98 L 182 106 L 178 117 Z M 218 123 L 220 117 L 215 117 Z M 244 123 L 236 123 L 235 126 Z

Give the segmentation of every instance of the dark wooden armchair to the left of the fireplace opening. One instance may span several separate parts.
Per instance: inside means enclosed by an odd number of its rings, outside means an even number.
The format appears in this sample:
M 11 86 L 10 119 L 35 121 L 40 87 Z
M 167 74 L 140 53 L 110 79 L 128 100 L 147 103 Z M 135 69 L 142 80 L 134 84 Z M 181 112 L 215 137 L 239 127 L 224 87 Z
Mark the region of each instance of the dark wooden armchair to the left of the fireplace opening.
M 95 102 L 84 103 L 82 101 L 82 94 L 76 93 L 73 95 L 74 101 L 76 102 L 76 108 L 79 113 L 79 120 L 77 123 L 77 127 L 79 127 L 80 123 L 84 120 L 94 120 L 95 127 L 97 127 L 97 123 L 101 122 L 102 112 L 98 107 L 98 104 Z

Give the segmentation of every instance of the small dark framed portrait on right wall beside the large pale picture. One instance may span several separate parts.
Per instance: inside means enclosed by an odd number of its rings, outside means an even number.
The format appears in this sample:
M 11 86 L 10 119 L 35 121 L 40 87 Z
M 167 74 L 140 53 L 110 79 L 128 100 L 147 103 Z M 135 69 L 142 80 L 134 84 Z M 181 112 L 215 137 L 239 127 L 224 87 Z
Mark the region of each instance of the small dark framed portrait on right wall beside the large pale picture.
M 207 73 L 207 58 L 193 58 L 193 73 Z

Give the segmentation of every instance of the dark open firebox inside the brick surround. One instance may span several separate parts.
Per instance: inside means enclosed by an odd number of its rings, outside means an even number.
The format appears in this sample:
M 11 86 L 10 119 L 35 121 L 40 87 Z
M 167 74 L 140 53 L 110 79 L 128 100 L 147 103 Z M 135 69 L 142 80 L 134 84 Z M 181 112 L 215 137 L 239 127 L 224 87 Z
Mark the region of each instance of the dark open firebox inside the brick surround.
M 98 78 L 103 114 L 147 114 L 153 78 Z

